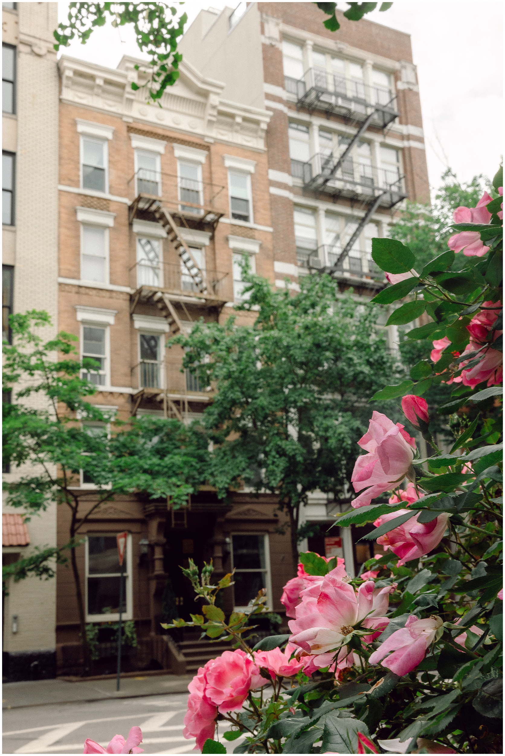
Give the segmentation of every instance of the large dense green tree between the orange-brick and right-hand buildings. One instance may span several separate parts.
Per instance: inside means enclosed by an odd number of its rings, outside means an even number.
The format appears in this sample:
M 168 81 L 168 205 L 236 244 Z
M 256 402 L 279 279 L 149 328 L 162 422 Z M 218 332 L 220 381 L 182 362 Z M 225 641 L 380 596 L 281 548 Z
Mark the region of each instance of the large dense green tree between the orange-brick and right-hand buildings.
M 319 489 L 349 500 L 356 441 L 367 401 L 393 370 L 373 306 L 340 297 L 329 276 L 300 279 L 300 293 L 273 291 L 246 276 L 239 309 L 253 325 L 200 322 L 174 342 L 184 366 L 217 393 L 203 423 L 214 443 L 212 480 L 220 496 L 245 482 L 279 497 L 297 559 L 300 505 Z

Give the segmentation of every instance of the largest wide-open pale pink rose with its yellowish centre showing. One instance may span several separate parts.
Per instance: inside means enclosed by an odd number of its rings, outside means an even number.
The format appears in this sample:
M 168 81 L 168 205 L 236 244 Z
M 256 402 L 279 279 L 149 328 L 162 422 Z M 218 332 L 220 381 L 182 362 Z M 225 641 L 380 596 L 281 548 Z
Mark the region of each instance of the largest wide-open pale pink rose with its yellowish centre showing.
M 311 655 L 321 655 L 321 667 L 334 660 L 343 638 L 353 632 L 356 624 L 370 627 L 373 637 L 383 631 L 389 620 L 384 616 L 389 606 L 391 587 L 376 589 L 373 581 L 360 585 L 358 592 L 349 583 L 325 575 L 315 596 L 315 588 L 302 591 L 302 602 L 296 608 L 296 619 L 288 622 L 293 634 L 291 643 Z M 371 642 L 371 641 L 369 641 Z

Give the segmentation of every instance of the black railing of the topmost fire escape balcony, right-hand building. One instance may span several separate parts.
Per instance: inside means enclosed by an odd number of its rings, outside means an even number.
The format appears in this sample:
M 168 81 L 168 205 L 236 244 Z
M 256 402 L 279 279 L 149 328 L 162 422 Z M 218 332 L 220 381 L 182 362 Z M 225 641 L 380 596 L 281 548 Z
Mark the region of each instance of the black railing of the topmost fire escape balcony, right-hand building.
M 310 68 L 301 79 L 285 76 L 285 89 L 297 98 L 297 107 L 329 110 L 364 121 L 371 113 L 371 125 L 384 129 L 399 116 L 396 95 L 389 88 L 345 79 L 337 73 Z

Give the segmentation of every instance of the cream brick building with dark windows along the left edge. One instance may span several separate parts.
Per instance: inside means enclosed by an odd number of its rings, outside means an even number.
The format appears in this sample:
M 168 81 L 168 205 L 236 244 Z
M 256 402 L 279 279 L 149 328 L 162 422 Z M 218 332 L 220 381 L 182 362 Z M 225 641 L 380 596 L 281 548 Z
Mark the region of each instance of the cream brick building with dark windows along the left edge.
M 57 333 L 58 70 L 53 45 L 57 3 L 2 3 L 2 335 L 12 312 L 45 310 Z M 4 395 L 4 401 L 16 401 Z M 28 401 L 28 400 L 23 400 Z M 41 398 L 29 405 L 45 408 Z M 34 472 L 4 461 L 6 480 Z M 54 470 L 52 471 L 54 472 Z M 23 522 L 4 507 L 2 562 L 56 544 L 56 506 Z M 54 677 L 56 581 L 8 581 L 3 603 L 3 676 Z

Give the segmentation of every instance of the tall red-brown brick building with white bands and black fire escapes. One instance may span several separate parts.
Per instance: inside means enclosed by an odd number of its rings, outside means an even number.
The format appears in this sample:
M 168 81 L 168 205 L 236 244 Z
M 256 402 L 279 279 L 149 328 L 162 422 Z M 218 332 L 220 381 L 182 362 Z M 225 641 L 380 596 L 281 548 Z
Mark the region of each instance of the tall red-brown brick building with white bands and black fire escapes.
M 240 3 L 201 11 L 184 59 L 226 83 L 223 96 L 272 113 L 266 131 L 276 286 L 325 269 L 369 299 L 383 285 L 372 237 L 388 234 L 406 197 L 429 202 L 416 67 L 408 34 L 372 21 L 323 26 L 309 2 Z M 387 23 L 387 14 L 384 14 Z M 390 327 L 390 345 L 396 332 Z M 324 525 L 339 505 L 313 494 L 302 522 Z M 350 528 L 301 550 L 368 558 Z M 334 531 L 331 531 L 334 533 Z M 338 540 L 340 538 L 340 541 Z

